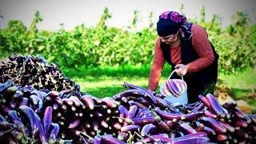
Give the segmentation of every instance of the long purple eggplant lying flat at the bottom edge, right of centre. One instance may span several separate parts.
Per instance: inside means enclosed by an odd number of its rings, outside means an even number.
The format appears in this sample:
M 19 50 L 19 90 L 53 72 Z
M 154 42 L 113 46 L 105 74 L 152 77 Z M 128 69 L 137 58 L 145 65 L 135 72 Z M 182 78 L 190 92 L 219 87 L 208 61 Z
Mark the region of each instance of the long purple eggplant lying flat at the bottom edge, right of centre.
M 178 140 L 176 140 L 174 138 L 174 140 L 172 140 L 170 143 L 184 144 L 184 143 L 206 143 L 206 142 L 210 142 L 210 138 L 208 138 L 208 137 L 190 137 L 190 138 L 184 138 L 184 139 L 178 139 Z

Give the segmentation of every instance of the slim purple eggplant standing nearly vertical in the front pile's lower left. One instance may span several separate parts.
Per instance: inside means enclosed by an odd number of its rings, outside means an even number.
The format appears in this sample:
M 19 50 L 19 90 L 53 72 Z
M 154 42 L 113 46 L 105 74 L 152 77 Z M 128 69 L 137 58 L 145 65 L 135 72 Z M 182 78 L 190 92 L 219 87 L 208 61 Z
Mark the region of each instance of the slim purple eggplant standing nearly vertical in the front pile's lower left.
M 48 134 L 48 130 L 50 128 L 50 124 L 52 121 L 52 113 L 53 108 L 51 106 L 47 106 L 42 118 L 42 124 L 46 134 Z

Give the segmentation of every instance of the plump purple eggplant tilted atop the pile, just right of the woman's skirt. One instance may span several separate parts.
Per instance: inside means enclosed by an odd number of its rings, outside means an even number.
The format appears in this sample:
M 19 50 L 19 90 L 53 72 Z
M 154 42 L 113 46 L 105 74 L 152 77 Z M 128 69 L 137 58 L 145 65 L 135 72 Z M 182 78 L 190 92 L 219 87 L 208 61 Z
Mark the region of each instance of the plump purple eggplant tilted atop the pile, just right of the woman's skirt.
M 206 98 L 210 102 L 210 106 L 213 108 L 214 112 L 218 114 L 221 118 L 225 118 L 224 111 L 222 110 L 222 106 L 220 103 L 214 98 L 213 94 L 206 94 Z

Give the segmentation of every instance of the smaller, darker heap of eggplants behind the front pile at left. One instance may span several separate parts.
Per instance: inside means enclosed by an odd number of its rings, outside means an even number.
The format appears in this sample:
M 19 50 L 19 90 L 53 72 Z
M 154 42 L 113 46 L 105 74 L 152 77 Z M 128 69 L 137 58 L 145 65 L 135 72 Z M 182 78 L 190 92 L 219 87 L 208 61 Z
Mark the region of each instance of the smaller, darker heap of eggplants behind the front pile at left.
M 18 86 L 33 86 L 37 90 L 80 90 L 54 63 L 48 64 L 40 55 L 13 54 L 0 62 L 0 82 L 13 79 Z

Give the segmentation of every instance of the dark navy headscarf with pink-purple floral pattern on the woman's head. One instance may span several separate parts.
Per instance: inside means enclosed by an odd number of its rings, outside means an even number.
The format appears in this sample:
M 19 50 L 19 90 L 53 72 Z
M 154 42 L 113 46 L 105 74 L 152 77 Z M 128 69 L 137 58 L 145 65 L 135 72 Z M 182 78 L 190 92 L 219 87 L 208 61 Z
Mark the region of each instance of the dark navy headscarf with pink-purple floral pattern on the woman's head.
M 178 14 L 178 12 L 174 11 L 166 11 L 159 16 L 157 23 L 158 35 L 166 37 L 170 34 L 176 34 L 179 30 L 183 38 L 184 33 L 188 32 L 187 27 L 184 25 L 185 23 L 185 15 Z

